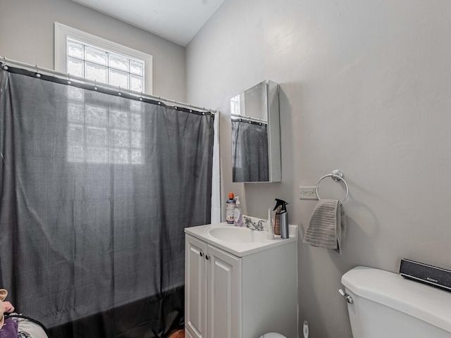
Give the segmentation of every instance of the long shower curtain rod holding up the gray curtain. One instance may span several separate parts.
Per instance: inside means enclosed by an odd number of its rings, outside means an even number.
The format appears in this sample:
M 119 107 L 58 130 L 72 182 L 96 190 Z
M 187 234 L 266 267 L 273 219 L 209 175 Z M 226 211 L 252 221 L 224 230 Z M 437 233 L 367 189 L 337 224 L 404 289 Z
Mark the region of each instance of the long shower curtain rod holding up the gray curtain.
M 213 109 L 208 109 L 208 108 L 205 108 L 205 107 L 192 106 L 191 104 L 184 104 L 183 102 L 178 102 L 178 101 L 174 101 L 174 100 L 170 100 L 170 99 L 164 99 L 161 96 L 153 96 L 153 95 L 145 94 L 143 92 L 135 92 L 135 91 L 132 91 L 130 89 L 125 89 L 125 88 L 121 88 L 121 87 L 112 86 L 111 84 L 107 84 L 107 83 L 101 83 L 101 82 L 99 83 L 97 81 L 92 81 L 92 80 L 89 80 L 89 79 L 85 79 L 84 77 L 78 77 L 78 76 L 75 76 L 75 75 L 60 73 L 60 72 L 57 72 L 56 70 L 39 67 L 38 65 L 31 65 L 30 63 L 24 63 L 24 62 L 20 62 L 20 61 L 16 61 L 16 60 L 11 60 L 10 58 L 6 58 L 6 56 L 0 56 L 0 62 L 3 63 L 6 66 L 8 66 L 8 64 L 9 65 L 18 65 L 19 67 L 28 68 L 29 70 L 35 70 L 37 74 L 39 74 L 39 72 L 42 72 L 42 73 L 47 73 L 47 74 L 54 75 L 54 76 L 57 76 L 57 77 L 63 77 L 64 79 L 67 79 L 68 81 L 75 80 L 75 81 L 78 81 L 78 82 L 83 82 L 85 84 L 92 84 L 95 87 L 103 87 L 103 88 L 106 88 L 106 89 L 118 90 L 119 92 L 124 92 L 124 93 L 128 93 L 128 94 L 135 95 L 135 96 L 138 96 L 138 97 L 142 97 L 143 99 L 151 99 L 151 100 L 155 100 L 155 101 L 163 101 L 163 102 L 168 102 L 168 103 L 171 103 L 171 104 L 175 104 L 176 106 L 184 106 L 184 107 L 189 108 L 189 109 L 194 108 L 194 109 L 198 109 L 200 111 L 209 111 L 211 114 L 217 113 L 217 111 L 215 111 Z

